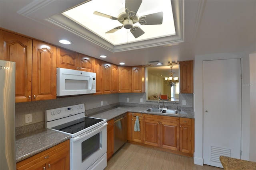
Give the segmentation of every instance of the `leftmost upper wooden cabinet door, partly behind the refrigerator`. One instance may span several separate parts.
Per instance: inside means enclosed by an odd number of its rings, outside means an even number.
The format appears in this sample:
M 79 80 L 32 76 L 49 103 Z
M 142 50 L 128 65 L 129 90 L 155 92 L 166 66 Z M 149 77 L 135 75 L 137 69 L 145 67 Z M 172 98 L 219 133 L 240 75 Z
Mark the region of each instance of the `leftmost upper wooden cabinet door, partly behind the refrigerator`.
M 32 39 L 3 30 L 0 36 L 0 59 L 16 62 L 15 102 L 31 101 Z

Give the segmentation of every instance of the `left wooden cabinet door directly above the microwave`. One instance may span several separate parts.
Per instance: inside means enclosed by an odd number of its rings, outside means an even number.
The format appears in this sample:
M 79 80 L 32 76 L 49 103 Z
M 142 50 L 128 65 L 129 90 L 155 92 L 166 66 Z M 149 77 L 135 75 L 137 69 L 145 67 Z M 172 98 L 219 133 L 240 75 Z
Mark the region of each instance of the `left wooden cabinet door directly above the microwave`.
M 57 67 L 78 70 L 78 53 L 58 47 Z

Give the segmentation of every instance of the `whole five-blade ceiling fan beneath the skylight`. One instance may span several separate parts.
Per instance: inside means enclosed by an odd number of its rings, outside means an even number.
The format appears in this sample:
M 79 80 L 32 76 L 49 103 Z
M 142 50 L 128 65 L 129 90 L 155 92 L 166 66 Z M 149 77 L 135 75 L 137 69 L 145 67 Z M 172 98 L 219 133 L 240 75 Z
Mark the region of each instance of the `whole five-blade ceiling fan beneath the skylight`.
M 142 0 L 126 0 L 125 1 L 125 12 L 122 12 L 118 15 L 118 17 L 109 16 L 107 14 L 103 14 L 101 12 L 95 11 L 93 14 L 110 18 L 111 20 L 118 20 L 120 23 L 122 23 L 121 26 L 115 27 L 106 33 L 114 33 L 117 30 L 121 29 L 122 27 L 126 29 L 130 29 L 132 35 L 135 38 L 140 37 L 145 32 L 138 26 L 133 26 L 134 23 L 140 23 L 141 25 L 158 25 L 162 24 L 163 21 L 163 12 L 157 12 L 154 14 L 148 14 L 145 16 L 138 17 L 137 12 L 140 8 L 140 4 L 142 3 Z

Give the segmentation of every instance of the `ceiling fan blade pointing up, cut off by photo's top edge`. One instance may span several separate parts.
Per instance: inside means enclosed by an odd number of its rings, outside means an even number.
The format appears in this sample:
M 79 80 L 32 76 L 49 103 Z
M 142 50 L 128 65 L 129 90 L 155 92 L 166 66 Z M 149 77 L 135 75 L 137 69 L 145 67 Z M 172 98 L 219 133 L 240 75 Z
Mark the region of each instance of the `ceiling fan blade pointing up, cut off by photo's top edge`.
M 125 12 L 128 15 L 128 18 L 133 17 L 137 14 L 138 9 L 142 0 L 126 0 L 125 1 Z

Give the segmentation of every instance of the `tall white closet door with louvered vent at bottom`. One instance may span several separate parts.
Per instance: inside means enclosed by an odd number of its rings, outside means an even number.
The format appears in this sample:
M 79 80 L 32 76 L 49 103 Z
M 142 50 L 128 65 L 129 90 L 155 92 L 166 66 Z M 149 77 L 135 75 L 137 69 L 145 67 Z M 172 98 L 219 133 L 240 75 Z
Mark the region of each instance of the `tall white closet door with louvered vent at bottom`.
M 222 167 L 220 155 L 240 159 L 241 60 L 203 61 L 203 159 Z

